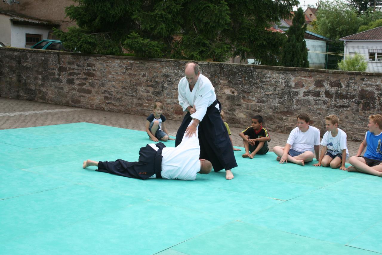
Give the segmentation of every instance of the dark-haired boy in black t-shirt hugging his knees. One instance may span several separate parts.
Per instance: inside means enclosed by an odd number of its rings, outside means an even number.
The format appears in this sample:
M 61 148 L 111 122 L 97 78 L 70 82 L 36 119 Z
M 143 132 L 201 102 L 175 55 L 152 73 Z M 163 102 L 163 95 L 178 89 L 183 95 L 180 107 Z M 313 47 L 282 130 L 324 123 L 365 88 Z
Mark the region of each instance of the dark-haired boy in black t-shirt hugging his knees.
M 240 132 L 239 136 L 243 138 L 245 153 L 243 158 L 250 158 L 256 154 L 265 154 L 268 152 L 268 142 L 270 137 L 265 127 L 262 127 L 262 117 L 256 115 L 252 118 L 252 126 L 247 127 Z M 251 154 L 249 154 L 251 152 Z

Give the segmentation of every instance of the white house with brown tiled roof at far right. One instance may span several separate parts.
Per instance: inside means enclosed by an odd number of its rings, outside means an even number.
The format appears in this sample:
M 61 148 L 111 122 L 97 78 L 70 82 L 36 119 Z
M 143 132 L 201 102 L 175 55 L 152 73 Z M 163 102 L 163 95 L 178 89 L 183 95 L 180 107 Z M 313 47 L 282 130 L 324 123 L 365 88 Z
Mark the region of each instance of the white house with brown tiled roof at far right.
M 382 72 L 382 26 L 345 36 L 344 59 L 358 53 L 367 60 L 366 72 Z

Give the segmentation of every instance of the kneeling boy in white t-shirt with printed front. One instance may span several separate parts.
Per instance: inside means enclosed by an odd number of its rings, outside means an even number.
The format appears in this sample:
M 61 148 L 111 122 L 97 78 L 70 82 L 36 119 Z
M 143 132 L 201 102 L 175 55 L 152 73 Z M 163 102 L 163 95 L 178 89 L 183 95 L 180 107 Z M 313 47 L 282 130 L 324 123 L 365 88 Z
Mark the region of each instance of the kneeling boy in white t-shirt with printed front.
M 340 168 L 346 170 L 346 157 L 349 156 L 348 148 L 346 147 L 346 133 L 338 128 L 340 120 L 334 114 L 325 117 L 325 127 L 327 132 L 322 137 L 321 156 L 315 167 L 330 165 L 331 168 Z

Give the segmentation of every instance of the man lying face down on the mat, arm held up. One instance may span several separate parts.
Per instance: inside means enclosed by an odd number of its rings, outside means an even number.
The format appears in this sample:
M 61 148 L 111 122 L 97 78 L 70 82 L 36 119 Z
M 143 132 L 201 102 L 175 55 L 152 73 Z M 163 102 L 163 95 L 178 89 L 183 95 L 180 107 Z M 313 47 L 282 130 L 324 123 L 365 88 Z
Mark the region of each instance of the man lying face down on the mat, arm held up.
M 166 147 L 162 142 L 147 144 L 139 150 L 138 162 L 127 162 L 121 159 L 113 162 L 98 162 L 88 159 L 84 161 L 83 168 L 97 166 L 98 172 L 129 178 L 195 180 L 196 173 L 208 174 L 212 169 L 211 162 L 199 159 L 197 130 L 198 126 L 196 126 L 196 136 L 183 137 L 183 141 L 177 147 Z

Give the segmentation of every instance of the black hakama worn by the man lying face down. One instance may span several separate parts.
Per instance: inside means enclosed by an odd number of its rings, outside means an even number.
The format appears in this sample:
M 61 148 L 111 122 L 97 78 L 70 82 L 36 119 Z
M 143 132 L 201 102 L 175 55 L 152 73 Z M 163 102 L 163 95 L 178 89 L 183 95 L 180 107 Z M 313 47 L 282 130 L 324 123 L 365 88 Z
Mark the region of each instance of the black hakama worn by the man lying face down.
M 98 172 L 112 173 L 129 178 L 147 179 L 154 174 L 162 178 L 162 149 L 166 147 L 162 142 L 155 144 L 159 149 L 155 151 L 150 145 L 139 150 L 138 162 L 127 162 L 122 159 L 116 161 L 99 161 Z

